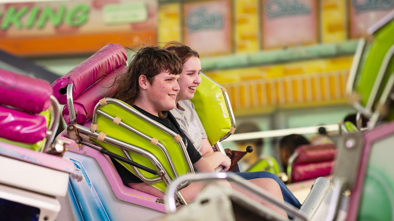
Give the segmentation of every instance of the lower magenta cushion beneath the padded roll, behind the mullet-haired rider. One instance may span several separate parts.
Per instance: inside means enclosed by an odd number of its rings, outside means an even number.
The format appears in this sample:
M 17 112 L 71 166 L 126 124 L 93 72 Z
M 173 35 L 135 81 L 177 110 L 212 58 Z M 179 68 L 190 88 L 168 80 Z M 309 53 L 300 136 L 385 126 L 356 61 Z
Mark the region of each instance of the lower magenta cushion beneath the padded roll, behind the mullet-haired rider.
M 82 92 L 78 98 L 74 99 L 74 110 L 76 114 L 76 122 L 78 124 L 84 125 L 84 123 L 92 118 L 93 110 L 100 99 L 112 96 L 117 85 L 114 85 L 111 88 L 108 88 L 108 86 L 112 85 L 116 76 L 125 73 L 126 70 L 127 66 L 120 66 L 107 76 L 103 77 L 100 81 L 87 88 L 87 90 Z M 63 108 L 63 119 L 66 123 L 70 122 L 69 108 L 67 104 Z

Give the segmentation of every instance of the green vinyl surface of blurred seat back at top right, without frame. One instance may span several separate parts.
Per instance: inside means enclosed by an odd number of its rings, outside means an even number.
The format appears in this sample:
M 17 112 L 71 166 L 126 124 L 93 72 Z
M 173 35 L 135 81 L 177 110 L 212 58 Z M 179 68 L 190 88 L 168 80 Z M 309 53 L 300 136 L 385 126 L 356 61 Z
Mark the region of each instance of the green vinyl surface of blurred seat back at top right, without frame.
M 367 43 L 367 48 L 362 55 L 362 61 L 360 64 L 361 69 L 359 69 L 359 81 L 356 83 L 356 90 L 359 94 L 361 94 L 361 104 L 363 106 L 366 105 L 368 97 L 371 94 L 372 87 L 379 72 L 383 58 L 385 57 L 389 48 L 394 44 L 393 36 L 394 20 L 388 22 L 374 34 L 375 39 L 372 43 Z M 377 94 L 377 98 L 380 97 L 383 88 L 387 83 L 388 77 L 390 77 L 390 74 L 394 71 L 393 61 L 394 59 L 391 59 L 388 65 L 379 93 Z

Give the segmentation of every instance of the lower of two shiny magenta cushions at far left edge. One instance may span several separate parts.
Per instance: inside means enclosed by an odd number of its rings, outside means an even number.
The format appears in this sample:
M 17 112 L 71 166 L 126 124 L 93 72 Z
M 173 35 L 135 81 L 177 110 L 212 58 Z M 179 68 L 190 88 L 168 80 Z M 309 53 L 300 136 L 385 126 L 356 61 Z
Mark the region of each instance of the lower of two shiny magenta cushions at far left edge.
M 34 144 L 46 136 L 44 116 L 0 106 L 0 137 Z

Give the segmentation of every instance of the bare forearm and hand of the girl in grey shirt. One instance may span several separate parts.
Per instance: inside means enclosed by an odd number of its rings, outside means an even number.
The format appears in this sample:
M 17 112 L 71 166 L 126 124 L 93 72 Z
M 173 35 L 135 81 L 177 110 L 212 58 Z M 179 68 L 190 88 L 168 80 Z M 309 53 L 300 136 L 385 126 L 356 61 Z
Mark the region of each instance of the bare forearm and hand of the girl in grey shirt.
M 229 170 L 231 165 L 230 158 L 219 151 L 214 152 L 207 138 L 203 138 L 200 151 L 201 155 L 208 161 L 212 169 L 216 169 L 218 166 L 222 165 L 223 171 Z

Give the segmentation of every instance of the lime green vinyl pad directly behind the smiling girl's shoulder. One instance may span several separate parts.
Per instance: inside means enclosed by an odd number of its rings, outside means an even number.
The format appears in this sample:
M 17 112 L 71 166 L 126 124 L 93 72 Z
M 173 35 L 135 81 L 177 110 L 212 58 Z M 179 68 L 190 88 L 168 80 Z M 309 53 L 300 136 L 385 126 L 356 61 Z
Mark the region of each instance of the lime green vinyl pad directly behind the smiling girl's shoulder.
M 235 131 L 235 120 L 227 92 L 215 81 L 201 74 L 201 84 L 191 99 L 211 145 Z

